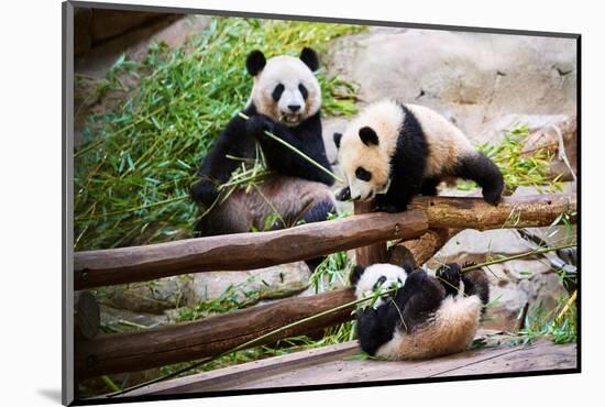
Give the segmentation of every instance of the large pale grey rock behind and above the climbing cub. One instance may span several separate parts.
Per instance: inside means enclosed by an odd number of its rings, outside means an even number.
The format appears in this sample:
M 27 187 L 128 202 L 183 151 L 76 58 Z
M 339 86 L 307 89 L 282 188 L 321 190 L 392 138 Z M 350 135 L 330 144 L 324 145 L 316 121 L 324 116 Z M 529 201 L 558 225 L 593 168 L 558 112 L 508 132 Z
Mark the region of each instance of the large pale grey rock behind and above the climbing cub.
M 363 102 L 426 105 L 476 143 L 517 120 L 510 114 L 575 113 L 569 38 L 372 28 L 334 41 L 327 59 L 332 73 L 360 84 Z

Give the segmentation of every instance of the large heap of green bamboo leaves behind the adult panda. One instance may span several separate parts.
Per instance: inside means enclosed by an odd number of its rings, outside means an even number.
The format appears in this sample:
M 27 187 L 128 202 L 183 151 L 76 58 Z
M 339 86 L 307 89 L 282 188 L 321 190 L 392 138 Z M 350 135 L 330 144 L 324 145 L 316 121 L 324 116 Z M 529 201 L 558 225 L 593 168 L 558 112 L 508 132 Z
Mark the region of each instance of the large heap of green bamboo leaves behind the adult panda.
M 182 47 L 156 43 L 142 62 L 121 57 L 99 87 L 123 91 L 114 111 L 89 118 L 75 154 L 75 249 L 147 244 L 190 235 L 196 169 L 212 141 L 243 109 L 252 81 L 246 54 L 320 55 L 362 26 L 212 18 Z M 355 87 L 320 69 L 327 116 L 354 113 Z M 127 85 L 127 84 L 135 84 Z

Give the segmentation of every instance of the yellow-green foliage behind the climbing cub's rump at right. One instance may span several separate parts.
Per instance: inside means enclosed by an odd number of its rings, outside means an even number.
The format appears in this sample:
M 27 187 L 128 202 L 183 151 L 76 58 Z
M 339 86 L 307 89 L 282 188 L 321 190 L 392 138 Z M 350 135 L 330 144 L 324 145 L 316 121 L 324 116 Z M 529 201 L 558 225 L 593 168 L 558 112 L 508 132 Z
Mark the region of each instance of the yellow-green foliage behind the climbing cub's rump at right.
M 546 188 L 550 193 L 560 191 L 562 187 L 560 176 L 553 179 L 548 175 L 553 154 L 546 148 L 524 153 L 524 141 L 528 134 L 528 127 L 520 124 L 507 131 L 498 145 L 484 143 L 479 145 L 477 150 L 498 166 L 509 193 L 521 186 L 536 187 L 538 190 Z M 473 182 L 462 179 L 458 182 L 458 189 L 474 188 L 476 184 Z

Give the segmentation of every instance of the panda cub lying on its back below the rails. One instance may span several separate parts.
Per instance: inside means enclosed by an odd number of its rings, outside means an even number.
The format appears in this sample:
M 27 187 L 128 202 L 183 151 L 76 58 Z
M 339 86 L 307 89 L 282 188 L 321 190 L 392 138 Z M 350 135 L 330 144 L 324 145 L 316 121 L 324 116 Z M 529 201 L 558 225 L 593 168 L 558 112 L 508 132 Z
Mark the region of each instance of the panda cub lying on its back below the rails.
M 462 273 L 455 264 L 432 277 L 421 268 L 392 264 L 356 266 L 351 284 L 358 299 L 378 286 L 399 288 L 373 306 L 359 307 L 358 337 L 363 351 L 388 360 L 427 359 L 469 349 L 490 299 L 485 272 Z M 460 282 L 464 289 L 459 294 Z

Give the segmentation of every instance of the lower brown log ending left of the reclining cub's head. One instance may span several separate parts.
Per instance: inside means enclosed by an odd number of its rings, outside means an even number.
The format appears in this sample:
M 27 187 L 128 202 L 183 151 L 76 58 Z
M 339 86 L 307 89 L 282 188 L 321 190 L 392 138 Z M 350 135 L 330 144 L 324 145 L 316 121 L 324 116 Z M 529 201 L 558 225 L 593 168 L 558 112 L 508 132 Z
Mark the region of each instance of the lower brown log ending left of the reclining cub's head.
M 353 290 L 348 288 L 311 297 L 284 299 L 195 322 L 99 336 L 76 346 L 76 375 L 78 378 L 86 378 L 213 356 L 287 323 L 354 299 Z M 352 308 L 344 309 L 293 327 L 263 343 L 344 322 L 352 318 L 351 311 Z

